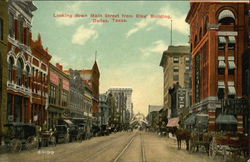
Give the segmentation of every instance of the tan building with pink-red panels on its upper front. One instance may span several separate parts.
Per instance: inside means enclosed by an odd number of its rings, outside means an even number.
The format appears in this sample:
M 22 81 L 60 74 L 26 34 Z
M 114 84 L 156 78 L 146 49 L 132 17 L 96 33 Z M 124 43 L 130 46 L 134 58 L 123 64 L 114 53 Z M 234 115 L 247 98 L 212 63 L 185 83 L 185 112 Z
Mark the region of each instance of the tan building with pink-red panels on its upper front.
M 63 66 L 49 66 L 48 128 L 54 128 L 58 119 L 70 117 L 70 77 L 63 72 Z

